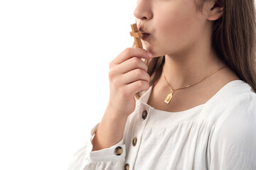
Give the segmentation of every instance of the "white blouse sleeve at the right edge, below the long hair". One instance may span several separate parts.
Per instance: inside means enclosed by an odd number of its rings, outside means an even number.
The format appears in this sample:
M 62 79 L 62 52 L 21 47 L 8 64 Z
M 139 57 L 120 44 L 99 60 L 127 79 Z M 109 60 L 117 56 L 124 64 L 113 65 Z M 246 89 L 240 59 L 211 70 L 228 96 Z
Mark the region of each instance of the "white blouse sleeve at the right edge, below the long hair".
M 256 94 L 234 99 L 215 124 L 210 170 L 256 169 Z

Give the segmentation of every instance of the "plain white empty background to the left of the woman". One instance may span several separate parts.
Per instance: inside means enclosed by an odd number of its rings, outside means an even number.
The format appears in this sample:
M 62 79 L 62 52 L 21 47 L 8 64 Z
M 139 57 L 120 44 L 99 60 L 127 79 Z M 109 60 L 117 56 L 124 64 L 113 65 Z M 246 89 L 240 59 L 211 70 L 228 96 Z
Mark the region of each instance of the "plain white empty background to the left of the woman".
M 0 169 L 67 169 L 104 114 L 136 0 L 0 1 Z

